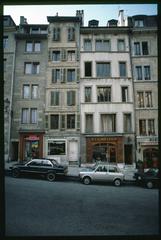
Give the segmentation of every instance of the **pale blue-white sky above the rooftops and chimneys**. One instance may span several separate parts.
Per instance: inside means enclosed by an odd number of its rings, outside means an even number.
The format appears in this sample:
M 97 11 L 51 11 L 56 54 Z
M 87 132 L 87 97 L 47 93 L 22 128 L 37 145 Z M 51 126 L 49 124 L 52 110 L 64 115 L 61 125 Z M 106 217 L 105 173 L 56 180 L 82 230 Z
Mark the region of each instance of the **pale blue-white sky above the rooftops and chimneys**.
M 84 26 L 88 21 L 99 20 L 99 26 L 106 26 L 110 19 L 118 19 L 118 11 L 125 16 L 157 15 L 157 4 L 86 4 L 86 5 L 4 5 L 3 14 L 11 15 L 19 25 L 20 16 L 27 18 L 28 24 L 48 24 L 47 16 L 75 16 L 76 10 L 84 10 Z

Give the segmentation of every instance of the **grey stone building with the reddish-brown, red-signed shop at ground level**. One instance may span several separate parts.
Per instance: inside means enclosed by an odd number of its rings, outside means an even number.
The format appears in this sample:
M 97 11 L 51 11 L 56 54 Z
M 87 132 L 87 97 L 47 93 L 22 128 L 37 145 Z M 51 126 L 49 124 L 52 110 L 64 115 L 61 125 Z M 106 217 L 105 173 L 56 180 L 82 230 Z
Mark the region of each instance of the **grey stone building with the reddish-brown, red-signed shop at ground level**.
M 21 17 L 15 34 L 11 159 L 43 157 L 47 27 Z

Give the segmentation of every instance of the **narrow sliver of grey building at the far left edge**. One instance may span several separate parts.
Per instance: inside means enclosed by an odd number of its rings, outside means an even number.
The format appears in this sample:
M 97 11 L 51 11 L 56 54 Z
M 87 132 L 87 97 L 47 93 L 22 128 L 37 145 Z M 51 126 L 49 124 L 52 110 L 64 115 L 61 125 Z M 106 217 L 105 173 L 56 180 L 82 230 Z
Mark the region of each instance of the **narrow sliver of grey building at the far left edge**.
M 4 152 L 5 161 L 10 161 L 10 137 L 11 122 L 13 114 L 13 82 L 16 41 L 14 34 L 17 27 L 11 16 L 6 15 L 3 18 L 3 69 L 4 69 Z M 16 159 L 17 156 L 14 156 Z

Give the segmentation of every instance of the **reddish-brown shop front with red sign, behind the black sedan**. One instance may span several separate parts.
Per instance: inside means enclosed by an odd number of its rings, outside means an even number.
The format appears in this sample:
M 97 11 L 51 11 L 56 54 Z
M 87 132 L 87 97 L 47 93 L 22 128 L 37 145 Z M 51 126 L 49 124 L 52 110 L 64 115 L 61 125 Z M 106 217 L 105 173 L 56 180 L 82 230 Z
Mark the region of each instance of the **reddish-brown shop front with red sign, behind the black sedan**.
M 43 157 L 43 136 L 44 132 L 20 133 L 20 161 Z

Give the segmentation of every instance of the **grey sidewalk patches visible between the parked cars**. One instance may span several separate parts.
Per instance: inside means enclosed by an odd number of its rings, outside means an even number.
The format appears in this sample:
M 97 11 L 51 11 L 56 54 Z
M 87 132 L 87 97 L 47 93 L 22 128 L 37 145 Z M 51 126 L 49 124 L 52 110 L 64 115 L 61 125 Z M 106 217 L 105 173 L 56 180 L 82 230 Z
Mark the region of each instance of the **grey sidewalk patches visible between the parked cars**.
M 5 163 L 5 171 L 9 171 L 10 170 L 10 167 L 17 163 L 16 161 L 12 161 L 12 162 L 6 162 Z M 82 164 L 81 167 L 78 167 L 78 166 L 68 166 L 68 173 L 67 175 L 70 176 L 70 177 L 79 177 L 79 172 L 83 169 L 83 168 L 86 168 L 88 167 L 89 164 Z M 134 171 L 129 171 L 127 169 L 123 169 L 123 172 L 125 174 L 125 180 L 126 181 L 135 181 L 134 178 L 133 178 L 133 175 L 134 175 Z

